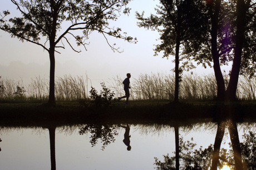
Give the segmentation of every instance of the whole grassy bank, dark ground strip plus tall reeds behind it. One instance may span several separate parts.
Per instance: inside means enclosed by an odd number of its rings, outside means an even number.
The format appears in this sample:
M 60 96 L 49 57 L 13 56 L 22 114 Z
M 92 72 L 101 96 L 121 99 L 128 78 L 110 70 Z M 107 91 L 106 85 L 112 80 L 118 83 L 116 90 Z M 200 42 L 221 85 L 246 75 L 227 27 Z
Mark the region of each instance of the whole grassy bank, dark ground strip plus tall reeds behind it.
M 227 78 L 227 77 L 225 77 Z M 116 102 L 124 95 L 122 79 L 114 78 L 115 93 L 110 107 L 92 104 L 88 77 L 65 76 L 56 80 L 56 107 L 47 107 L 48 81 L 32 79 L 28 86 L 13 79 L 0 79 L 0 124 L 78 124 L 88 122 L 153 122 L 179 123 L 213 121 L 233 118 L 238 122 L 255 121 L 256 81 L 240 77 L 237 98 L 233 103 L 218 103 L 215 77 L 188 75 L 180 82 L 180 103 L 174 99 L 174 76 L 170 74 L 141 74 L 133 79 L 130 103 Z M 104 85 L 105 86 L 105 85 Z M 7 88 L 9 87 L 9 88 Z M 103 88 L 102 88 L 103 89 Z M 113 93 L 113 94 L 114 94 Z M 110 96 L 112 92 L 105 92 Z M 99 93 L 97 93 L 99 97 Z M 105 95 L 105 96 L 106 96 Z M 104 95 L 102 95 L 104 96 Z M 102 97 L 101 97 L 102 99 Z M 65 102 L 60 102 L 65 101 Z M 76 102 L 72 102 L 76 101 Z M 251 101 L 251 102 L 249 102 Z

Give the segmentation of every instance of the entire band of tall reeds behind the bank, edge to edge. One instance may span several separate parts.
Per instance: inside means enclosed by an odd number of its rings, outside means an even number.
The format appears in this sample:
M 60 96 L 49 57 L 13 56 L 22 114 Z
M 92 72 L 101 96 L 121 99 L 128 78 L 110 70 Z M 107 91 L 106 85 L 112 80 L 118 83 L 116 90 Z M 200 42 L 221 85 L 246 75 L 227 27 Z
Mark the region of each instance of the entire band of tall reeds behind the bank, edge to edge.
M 77 101 L 79 99 L 90 99 L 88 93 L 91 85 L 88 83 L 87 75 L 63 76 L 55 81 L 55 97 L 57 101 Z M 123 96 L 123 79 L 119 76 L 112 78 L 106 86 L 114 91 L 115 97 Z M 21 80 L 0 77 L 0 102 L 11 101 L 47 101 L 48 79 L 36 77 L 31 83 L 23 84 Z M 228 76 L 225 77 L 226 87 Z M 175 76 L 172 74 L 152 73 L 140 74 L 139 77 L 131 79 L 132 100 L 161 100 L 174 99 Z M 100 91 L 101 89 L 99 89 Z M 240 76 L 237 90 L 238 99 L 255 100 L 256 79 Z M 180 99 L 184 101 L 204 101 L 216 98 L 217 86 L 214 75 L 198 76 L 188 74 L 183 76 L 180 82 Z

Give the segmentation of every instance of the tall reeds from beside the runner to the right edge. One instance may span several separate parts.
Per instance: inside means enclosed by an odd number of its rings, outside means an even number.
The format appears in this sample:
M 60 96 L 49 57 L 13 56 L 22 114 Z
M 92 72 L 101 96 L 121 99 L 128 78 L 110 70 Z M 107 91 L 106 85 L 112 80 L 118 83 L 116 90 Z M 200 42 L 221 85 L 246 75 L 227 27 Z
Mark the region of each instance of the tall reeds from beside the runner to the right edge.
M 124 96 L 123 79 L 113 78 L 112 90 L 116 97 Z M 225 87 L 228 86 L 228 76 L 224 74 Z M 114 86 L 113 86 L 114 85 Z M 174 99 L 175 76 L 174 74 L 151 73 L 140 74 L 138 78 L 131 79 L 131 99 L 134 100 L 159 100 Z M 187 74 L 181 78 L 179 98 L 185 101 L 213 100 L 217 95 L 216 79 L 213 74 L 198 76 Z M 239 77 L 237 97 L 243 100 L 256 99 L 256 78 Z

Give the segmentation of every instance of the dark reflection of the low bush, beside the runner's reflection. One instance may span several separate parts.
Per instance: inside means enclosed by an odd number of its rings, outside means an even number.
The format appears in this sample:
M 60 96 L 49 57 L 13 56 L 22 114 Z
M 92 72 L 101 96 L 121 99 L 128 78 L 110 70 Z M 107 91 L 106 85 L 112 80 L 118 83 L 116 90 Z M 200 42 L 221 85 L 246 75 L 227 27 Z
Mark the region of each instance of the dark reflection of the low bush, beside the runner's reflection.
M 90 143 L 92 146 L 95 146 L 100 139 L 102 143 L 101 150 L 104 150 L 108 144 L 115 141 L 115 136 L 118 134 L 117 129 L 119 129 L 118 126 L 110 124 L 86 124 L 80 128 L 79 134 L 91 133 Z

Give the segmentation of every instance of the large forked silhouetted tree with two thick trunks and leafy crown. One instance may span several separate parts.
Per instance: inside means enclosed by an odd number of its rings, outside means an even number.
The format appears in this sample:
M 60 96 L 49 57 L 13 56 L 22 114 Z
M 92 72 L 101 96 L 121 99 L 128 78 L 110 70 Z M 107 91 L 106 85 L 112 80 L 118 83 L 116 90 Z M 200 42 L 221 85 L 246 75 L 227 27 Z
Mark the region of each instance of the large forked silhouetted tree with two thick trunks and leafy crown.
M 255 7 L 254 1 L 221 1 L 205 3 L 206 16 L 202 27 L 207 30 L 201 38 L 191 41 L 191 51 L 198 63 L 213 62 L 217 97 L 220 100 L 234 100 L 239 74 L 252 76 L 255 71 Z M 225 91 L 225 82 L 220 66 L 233 62 L 230 80 Z M 206 64 L 204 64 L 206 67 Z M 240 72 L 242 68 L 242 72 Z

